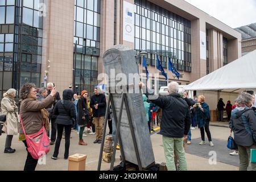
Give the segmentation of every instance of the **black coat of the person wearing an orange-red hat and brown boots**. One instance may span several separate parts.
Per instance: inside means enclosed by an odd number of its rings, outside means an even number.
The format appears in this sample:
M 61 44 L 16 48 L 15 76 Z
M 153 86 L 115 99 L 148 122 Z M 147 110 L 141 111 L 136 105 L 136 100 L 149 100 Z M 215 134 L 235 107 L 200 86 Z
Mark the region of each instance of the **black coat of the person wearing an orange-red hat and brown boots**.
M 82 117 L 85 116 L 85 119 Z M 77 123 L 86 125 L 89 122 L 89 108 L 84 97 L 81 97 L 77 102 Z

